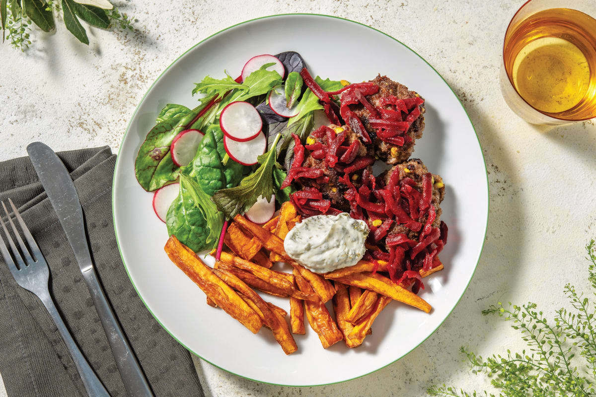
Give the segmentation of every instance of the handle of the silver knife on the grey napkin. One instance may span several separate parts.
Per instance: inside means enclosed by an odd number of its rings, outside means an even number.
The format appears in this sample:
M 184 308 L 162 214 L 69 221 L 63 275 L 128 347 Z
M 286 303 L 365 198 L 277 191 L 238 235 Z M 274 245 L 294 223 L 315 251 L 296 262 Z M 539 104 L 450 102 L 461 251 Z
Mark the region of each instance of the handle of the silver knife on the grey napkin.
M 105 293 L 97 279 L 95 269 L 90 267 L 83 271 L 83 279 L 91 293 L 91 299 L 100 316 L 101 325 L 104 327 L 105 335 L 110 342 L 110 348 L 116 365 L 122 376 L 122 382 L 129 397 L 153 397 L 151 388 L 141 370 L 141 365 L 136 360 L 126 336 L 111 310 L 110 304 L 105 298 Z

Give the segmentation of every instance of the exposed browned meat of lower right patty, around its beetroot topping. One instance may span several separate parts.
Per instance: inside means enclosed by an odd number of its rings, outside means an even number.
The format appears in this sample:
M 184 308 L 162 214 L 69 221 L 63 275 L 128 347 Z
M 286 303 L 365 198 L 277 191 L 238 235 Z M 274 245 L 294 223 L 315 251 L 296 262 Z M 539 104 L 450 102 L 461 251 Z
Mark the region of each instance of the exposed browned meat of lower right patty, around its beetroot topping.
M 388 183 L 391 174 L 398 171 L 400 173 L 400 180 L 406 177 L 413 179 L 414 182 L 417 183 L 415 189 L 417 189 L 419 192 L 422 192 L 422 176 L 428 173 L 429 170 L 427 170 L 426 165 L 424 165 L 421 160 L 412 158 L 407 162 L 395 165 L 395 167 L 381 174 L 379 178 L 384 180 L 385 183 Z M 442 214 L 440 203 L 443 201 L 443 197 L 445 197 L 445 185 L 443 184 L 443 179 L 439 175 L 433 174 L 433 179 L 433 198 L 431 205 L 433 205 L 434 210 L 436 211 L 436 218 L 434 218 L 432 225 L 433 227 L 439 227 L 441 222 L 440 215 Z M 416 220 L 422 224 L 425 224 L 427 218 L 428 214 L 424 214 L 418 217 Z M 418 240 L 418 236 L 420 235 L 420 232 L 414 232 L 408 229 L 405 224 L 393 224 L 393 226 L 389 229 L 389 234 L 393 233 L 403 233 L 412 240 Z

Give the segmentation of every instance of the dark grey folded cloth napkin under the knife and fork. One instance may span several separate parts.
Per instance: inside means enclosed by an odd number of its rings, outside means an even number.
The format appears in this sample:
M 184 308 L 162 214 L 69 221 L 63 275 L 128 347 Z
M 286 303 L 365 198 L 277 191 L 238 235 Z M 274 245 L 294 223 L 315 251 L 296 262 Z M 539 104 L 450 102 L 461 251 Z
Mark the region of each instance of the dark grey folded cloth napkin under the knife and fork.
M 58 157 L 75 180 L 96 271 L 153 392 L 159 397 L 202 397 L 190 354 L 145 308 L 120 259 L 111 211 L 116 155 L 104 147 L 61 152 Z M 7 202 L 8 198 L 23 215 L 44 253 L 51 273 L 51 294 L 83 355 L 110 395 L 125 397 L 126 390 L 75 255 L 27 157 L 0 162 L 0 201 Z M 17 285 L 1 257 L 0 351 L 0 374 L 9 397 L 87 395 L 44 305 Z

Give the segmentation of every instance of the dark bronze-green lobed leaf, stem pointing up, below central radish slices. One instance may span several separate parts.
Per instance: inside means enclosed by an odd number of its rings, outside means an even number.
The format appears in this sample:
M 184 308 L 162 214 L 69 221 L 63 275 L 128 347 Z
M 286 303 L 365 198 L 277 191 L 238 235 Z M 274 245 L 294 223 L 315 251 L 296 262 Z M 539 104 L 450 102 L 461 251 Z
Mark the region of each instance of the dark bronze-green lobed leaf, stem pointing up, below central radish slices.
M 253 206 L 259 196 L 271 198 L 275 193 L 273 187 L 273 168 L 275 163 L 275 146 L 281 135 L 274 140 L 271 149 L 266 154 L 259 156 L 260 166 L 254 173 L 244 177 L 240 185 L 230 189 L 215 192 L 213 202 L 219 211 L 224 212 L 225 218 L 230 220 L 237 214 L 244 214 Z

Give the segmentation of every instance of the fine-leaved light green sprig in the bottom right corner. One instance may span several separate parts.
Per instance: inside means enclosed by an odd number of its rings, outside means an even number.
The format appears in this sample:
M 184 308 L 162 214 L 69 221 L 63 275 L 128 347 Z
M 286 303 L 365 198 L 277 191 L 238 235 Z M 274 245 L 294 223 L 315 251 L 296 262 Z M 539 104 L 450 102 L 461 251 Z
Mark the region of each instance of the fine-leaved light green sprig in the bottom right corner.
M 596 243 L 586 245 L 588 253 L 588 280 L 596 290 Z M 521 307 L 499 302 L 482 314 L 497 314 L 505 321 L 512 321 L 513 329 L 522 333 L 528 349 L 521 353 L 507 351 L 506 355 L 493 355 L 483 359 L 462 347 L 461 353 L 471 365 L 473 373 L 491 377 L 491 384 L 499 390 L 499 396 L 573 396 L 596 395 L 596 310 L 595 301 L 590 302 L 575 287 L 567 284 L 564 292 L 573 310 L 561 308 L 556 311 L 554 324 L 536 310 L 536 304 Z M 596 296 L 595 292 L 594 296 Z M 579 357 L 582 365 L 576 365 Z M 575 360 L 574 360 L 575 358 Z M 432 386 L 431 396 L 472 397 L 495 396 L 488 392 L 466 392 L 452 386 Z

